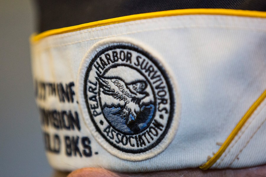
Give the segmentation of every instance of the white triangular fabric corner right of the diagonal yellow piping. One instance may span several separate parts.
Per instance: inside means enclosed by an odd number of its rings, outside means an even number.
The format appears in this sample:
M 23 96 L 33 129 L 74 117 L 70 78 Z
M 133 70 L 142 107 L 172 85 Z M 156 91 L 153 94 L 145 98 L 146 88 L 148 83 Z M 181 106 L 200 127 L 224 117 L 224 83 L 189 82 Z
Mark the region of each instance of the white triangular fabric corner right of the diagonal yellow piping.
M 241 168 L 265 163 L 266 100 L 247 120 L 223 155 L 212 168 Z

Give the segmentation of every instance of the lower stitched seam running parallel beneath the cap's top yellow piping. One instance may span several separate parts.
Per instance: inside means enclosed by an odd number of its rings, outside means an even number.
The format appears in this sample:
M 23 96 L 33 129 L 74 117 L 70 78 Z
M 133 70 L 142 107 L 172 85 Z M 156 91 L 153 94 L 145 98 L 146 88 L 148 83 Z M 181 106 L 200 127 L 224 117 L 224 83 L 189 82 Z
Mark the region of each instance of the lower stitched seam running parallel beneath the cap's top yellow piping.
M 127 34 L 133 34 L 133 33 L 139 33 L 139 32 L 148 32 L 148 31 L 157 31 L 157 30 L 166 30 L 166 29 L 182 29 L 182 28 L 225 28 L 225 29 L 231 29 L 231 30 L 249 30 L 249 31 L 254 31 L 254 32 L 266 32 L 265 30 L 257 30 L 257 29 L 253 29 L 253 28 L 237 28 L 237 27 L 228 27 L 228 26 L 183 26 L 183 27 L 164 27 L 164 28 L 158 28 L 158 29 L 152 29 L 152 30 L 139 30 L 139 31 L 134 31 L 134 32 L 126 32 L 126 33 L 120 33 L 120 34 L 116 34 L 116 35 L 109 35 L 109 36 L 104 36 L 104 37 L 96 37 L 96 38 L 91 38 L 91 39 L 86 39 L 86 40 L 80 40 L 80 41 L 76 41 L 76 42 L 71 42 L 71 43 L 67 43 L 67 44 L 62 44 L 62 45 L 52 45 L 52 46 L 48 46 L 45 48 L 40 47 L 41 49 L 39 49 L 38 51 L 42 51 L 42 50 L 47 50 L 49 48 L 55 48 L 55 47 L 60 47 L 60 46 L 64 46 L 64 45 L 71 45 L 71 44 L 75 44 L 75 43 L 79 43 L 79 42 L 85 42 L 85 41 L 89 41 L 89 40 L 95 40 L 95 39 L 101 39 L 101 38 L 107 38 L 107 37 L 114 37 L 114 36 L 119 36 L 119 35 L 127 35 Z

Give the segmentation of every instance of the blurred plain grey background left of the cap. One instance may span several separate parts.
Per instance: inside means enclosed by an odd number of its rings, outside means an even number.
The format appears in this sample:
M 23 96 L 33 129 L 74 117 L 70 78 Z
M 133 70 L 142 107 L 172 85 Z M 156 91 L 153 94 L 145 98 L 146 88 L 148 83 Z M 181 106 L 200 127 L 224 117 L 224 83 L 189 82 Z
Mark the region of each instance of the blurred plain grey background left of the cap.
M 0 0 L 0 176 L 50 176 L 34 99 L 29 37 L 36 30 L 30 0 Z

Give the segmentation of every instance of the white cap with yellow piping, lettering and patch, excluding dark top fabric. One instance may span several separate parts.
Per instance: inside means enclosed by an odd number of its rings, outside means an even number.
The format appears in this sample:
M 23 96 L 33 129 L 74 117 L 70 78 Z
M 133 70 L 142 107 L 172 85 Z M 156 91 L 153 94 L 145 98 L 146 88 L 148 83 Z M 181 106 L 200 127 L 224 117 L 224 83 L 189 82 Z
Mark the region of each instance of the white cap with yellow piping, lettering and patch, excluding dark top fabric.
M 153 12 L 31 40 L 53 168 L 266 163 L 266 12 Z

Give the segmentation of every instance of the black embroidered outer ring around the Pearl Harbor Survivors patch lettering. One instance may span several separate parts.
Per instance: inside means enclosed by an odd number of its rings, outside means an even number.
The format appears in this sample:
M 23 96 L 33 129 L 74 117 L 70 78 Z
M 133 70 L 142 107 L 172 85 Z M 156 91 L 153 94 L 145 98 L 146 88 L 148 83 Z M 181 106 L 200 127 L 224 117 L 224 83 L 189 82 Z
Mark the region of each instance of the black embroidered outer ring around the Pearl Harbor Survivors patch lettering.
M 121 44 L 124 43 L 124 44 Z M 127 45 L 126 45 L 127 44 Z M 170 100 L 170 109 L 169 109 L 169 117 L 168 117 L 168 121 L 165 127 L 165 130 L 163 131 L 163 133 L 160 135 L 160 137 L 153 142 L 150 146 L 143 148 L 143 149 L 136 149 L 136 150 L 129 150 L 126 148 L 121 148 L 119 146 L 117 146 L 116 144 L 114 144 L 113 142 L 109 141 L 108 138 L 103 134 L 103 132 L 100 130 L 100 128 L 98 127 L 98 124 L 95 122 L 95 120 L 93 119 L 93 115 L 90 111 L 90 106 L 89 106 L 89 102 L 88 102 L 88 95 L 87 95 L 87 80 L 89 77 L 89 72 L 91 71 L 94 62 L 97 60 L 97 58 L 100 57 L 100 55 L 102 55 L 103 53 L 109 51 L 109 50 L 114 50 L 114 49 L 127 49 L 127 50 L 133 50 L 135 52 L 138 52 L 140 54 L 142 54 L 143 56 L 145 56 L 147 59 L 149 59 L 150 61 L 153 62 L 153 64 L 157 67 L 157 69 L 160 71 L 160 73 L 162 74 L 162 76 L 164 77 L 166 84 L 168 86 L 168 93 L 169 93 L 169 100 Z M 171 127 L 172 121 L 173 121 L 173 116 L 175 113 L 175 106 L 176 106 L 176 101 L 175 101 L 175 96 L 174 96 L 174 89 L 173 89 L 173 83 L 171 83 L 170 81 L 170 77 L 168 76 L 168 73 L 165 71 L 164 67 L 162 64 L 160 64 L 158 62 L 157 59 L 155 59 L 152 55 L 150 55 L 148 52 L 146 52 L 145 50 L 140 49 L 140 47 L 137 47 L 136 45 L 133 45 L 131 43 L 128 42 L 119 42 L 118 44 L 114 44 L 112 46 L 107 46 L 104 49 L 100 50 L 94 57 L 93 59 L 90 61 L 90 64 L 88 65 L 86 72 L 85 72 L 85 77 L 84 77 L 84 86 L 83 86 L 83 95 L 85 98 L 85 104 L 87 106 L 87 111 L 90 115 L 90 119 L 93 122 L 96 130 L 100 133 L 100 135 L 110 144 L 112 145 L 114 148 L 125 152 L 125 153 L 132 153 L 132 154 L 139 154 L 139 153 L 144 153 L 148 150 L 151 150 L 153 148 L 155 148 L 162 140 L 163 138 L 166 136 L 166 134 L 168 133 L 169 128 Z

